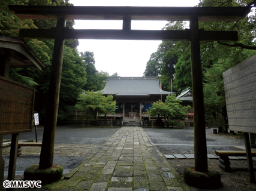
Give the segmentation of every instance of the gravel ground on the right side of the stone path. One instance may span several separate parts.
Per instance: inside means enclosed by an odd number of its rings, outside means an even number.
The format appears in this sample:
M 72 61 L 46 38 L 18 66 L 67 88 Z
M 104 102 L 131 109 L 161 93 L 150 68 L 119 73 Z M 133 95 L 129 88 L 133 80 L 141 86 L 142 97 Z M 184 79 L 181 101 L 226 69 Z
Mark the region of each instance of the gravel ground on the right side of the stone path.
M 194 153 L 194 128 L 144 128 L 152 142 L 158 147 L 163 155 Z M 207 153 L 213 154 L 215 150 L 240 150 L 233 146 L 244 146 L 243 134 L 213 134 L 212 129 L 206 129 Z M 164 145 L 165 144 L 165 145 Z M 176 169 L 180 177 L 186 167 L 194 167 L 194 159 L 167 159 Z M 256 190 L 256 184 L 249 181 L 247 160 L 230 160 L 232 172 L 225 172 L 219 168 L 218 159 L 208 159 L 209 169 L 219 171 L 221 174 L 222 187 L 214 190 Z M 254 161 L 254 168 L 256 162 Z M 256 173 L 255 173 L 256 177 Z M 193 191 L 203 191 L 191 186 Z M 211 189 L 207 189 L 211 190 Z

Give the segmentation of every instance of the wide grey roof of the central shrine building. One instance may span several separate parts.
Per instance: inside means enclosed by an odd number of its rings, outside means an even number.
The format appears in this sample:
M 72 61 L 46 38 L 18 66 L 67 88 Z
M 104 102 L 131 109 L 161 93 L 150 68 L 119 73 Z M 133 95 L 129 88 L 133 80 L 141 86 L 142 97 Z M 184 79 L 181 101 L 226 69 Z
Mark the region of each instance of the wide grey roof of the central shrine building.
M 156 77 L 109 77 L 103 93 L 115 96 L 150 96 L 161 95 Z M 162 91 L 162 95 L 172 94 Z

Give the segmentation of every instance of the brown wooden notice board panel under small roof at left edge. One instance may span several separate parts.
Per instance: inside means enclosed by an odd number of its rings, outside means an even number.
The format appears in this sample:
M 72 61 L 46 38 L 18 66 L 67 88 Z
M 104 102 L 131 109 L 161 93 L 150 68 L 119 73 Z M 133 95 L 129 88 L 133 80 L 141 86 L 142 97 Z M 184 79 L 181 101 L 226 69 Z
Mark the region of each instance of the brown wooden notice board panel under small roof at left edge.
M 32 131 L 35 89 L 0 76 L 0 134 Z

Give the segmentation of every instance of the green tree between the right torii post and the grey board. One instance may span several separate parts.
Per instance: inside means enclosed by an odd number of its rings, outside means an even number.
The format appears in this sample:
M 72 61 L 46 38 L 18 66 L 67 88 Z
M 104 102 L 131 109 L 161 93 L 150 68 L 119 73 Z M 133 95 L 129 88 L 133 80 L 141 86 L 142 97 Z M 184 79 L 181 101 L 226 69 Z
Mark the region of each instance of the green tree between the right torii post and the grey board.
M 200 2 L 202 7 L 246 6 L 252 1 L 209 1 Z M 207 118 L 223 116 L 227 124 L 227 111 L 222 73 L 253 56 L 255 46 L 255 12 L 239 21 L 200 22 L 205 30 L 238 31 L 237 42 L 201 42 L 201 64 L 204 78 L 204 104 Z M 221 114 L 221 115 L 219 115 Z M 227 125 L 225 126 L 227 132 Z

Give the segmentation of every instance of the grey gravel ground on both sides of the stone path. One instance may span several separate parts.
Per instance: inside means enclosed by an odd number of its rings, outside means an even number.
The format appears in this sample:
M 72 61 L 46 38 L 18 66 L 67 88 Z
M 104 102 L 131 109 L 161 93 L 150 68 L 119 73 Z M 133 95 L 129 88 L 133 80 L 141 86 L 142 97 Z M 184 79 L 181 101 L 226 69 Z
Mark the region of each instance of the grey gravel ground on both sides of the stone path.
M 94 147 L 98 144 L 100 147 L 109 137 L 115 134 L 119 128 L 106 128 L 98 130 L 98 128 L 78 128 L 78 127 L 60 127 L 58 128 L 58 135 L 56 135 L 57 141 L 64 142 L 64 144 L 92 144 Z M 149 135 L 152 142 L 156 145 L 159 151 L 165 154 L 186 154 L 194 153 L 194 128 L 189 127 L 186 129 L 181 128 L 143 128 Z M 41 130 L 39 130 L 41 134 Z M 72 133 L 72 137 L 70 134 Z M 76 138 L 74 138 L 76 134 Z M 33 139 L 34 133 L 23 134 L 26 139 Z M 41 138 L 39 135 L 38 137 Z M 207 153 L 215 153 L 215 150 L 239 150 L 233 146 L 244 146 L 242 134 L 213 134 L 212 129 L 206 129 L 207 138 Z M 8 157 L 8 156 L 5 156 Z M 19 161 L 20 171 L 25 168 L 26 164 L 36 164 L 38 156 L 19 156 L 23 161 Z M 29 159 L 28 159 L 29 158 Z M 34 161 L 32 160 L 34 158 Z M 7 159 L 6 159 L 7 160 Z M 30 161 L 32 160 L 32 161 Z M 56 156 L 55 160 L 67 161 L 67 167 L 65 169 L 72 169 L 83 160 L 83 156 Z M 63 163 L 60 162 L 60 163 Z M 167 160 L 172 167 L 176 169 L 180 177 L 182 177 L 183 170 L 186 167 L 194 166 L 194 159 L 168 159 Z M 249 181 L 248 166 L 246 160 L 230 160 L 232 172 L 225 172 L 218 167 L 218 159 L 208 159 L 208 167 L 210 169 L 218 170 L 221 174 L 222 187 L 215 190 L 256 190 L 256 184 L 252 184 Z M 24 164 L 23 164 L 24 162 Z M 26 164 L 25 164 L 26 163 Z M 7 161 L 6 161 L 6 164 Z M 254 161 L 254 167 L 256 162 Z M 255 174 L 256 176 L 256 174 Z M 22 178 L 22 176 L 20 177 Z M 17 180 L 19 178 L 17 177 Z M 197 189 L 191 187 L 193 191 L 203 191 L 204 189 Z M 209 190 L 209 189 L 208 189 Z

